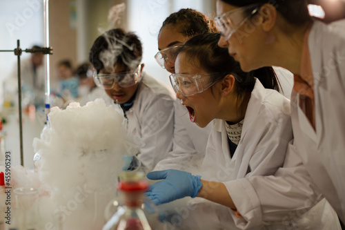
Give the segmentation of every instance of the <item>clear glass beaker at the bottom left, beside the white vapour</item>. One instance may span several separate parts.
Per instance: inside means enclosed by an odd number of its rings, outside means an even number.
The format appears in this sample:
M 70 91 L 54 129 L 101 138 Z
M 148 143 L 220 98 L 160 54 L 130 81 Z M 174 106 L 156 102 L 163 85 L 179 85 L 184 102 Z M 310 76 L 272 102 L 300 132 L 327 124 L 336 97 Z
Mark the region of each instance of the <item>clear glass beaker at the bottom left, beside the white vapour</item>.
M 36 230 L 39 229 L 40 217 L 38 189 L 21 187 L 14 189 L 13 226 L 10 229 Z

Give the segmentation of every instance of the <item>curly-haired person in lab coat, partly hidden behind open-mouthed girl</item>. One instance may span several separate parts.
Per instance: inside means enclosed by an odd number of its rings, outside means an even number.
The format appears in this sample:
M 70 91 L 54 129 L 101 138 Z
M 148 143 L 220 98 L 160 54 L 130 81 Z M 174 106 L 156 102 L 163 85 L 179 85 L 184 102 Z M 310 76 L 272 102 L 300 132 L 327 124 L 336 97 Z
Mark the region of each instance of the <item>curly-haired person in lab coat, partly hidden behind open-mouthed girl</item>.
M 167 17 L 159 31 L 158 49 L 155 59 L 170 73 L 175 73 L 177 49 L 188 39 L 206 32 L 215 32 L 213 20 L 197 10 L 181 9 Z M 175 128 L 172 151 L 166 159 L 158 162 L 155 171 L 180 169 L 198 171 L 204 159 L 206 143 L 211 130 L 211 123 L 205 128 L 190 122 L 186 108 L 179 99 L 174 103 Z M 197 133 L 197 135 L 195 135 Z

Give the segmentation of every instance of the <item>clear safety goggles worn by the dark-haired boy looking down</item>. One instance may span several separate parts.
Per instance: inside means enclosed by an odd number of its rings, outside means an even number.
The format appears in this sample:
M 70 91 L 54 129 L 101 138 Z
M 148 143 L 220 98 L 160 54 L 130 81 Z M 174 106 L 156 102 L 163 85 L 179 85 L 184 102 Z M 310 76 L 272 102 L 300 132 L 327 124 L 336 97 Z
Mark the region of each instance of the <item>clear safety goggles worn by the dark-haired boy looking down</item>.
M 134 86 L 137 84 L 141 79 L 141 65 L 137 67 L 135 72 L 128 72 L 128 73 L 99 73 L 95 71 L 93 78 L 95 79 L 95 83 L 97 86 L 104 88 L 104 89 L 112 89 L 114 88 L 115 84 L 119 84 L 122 88 L 127 88 L 130 86 Z

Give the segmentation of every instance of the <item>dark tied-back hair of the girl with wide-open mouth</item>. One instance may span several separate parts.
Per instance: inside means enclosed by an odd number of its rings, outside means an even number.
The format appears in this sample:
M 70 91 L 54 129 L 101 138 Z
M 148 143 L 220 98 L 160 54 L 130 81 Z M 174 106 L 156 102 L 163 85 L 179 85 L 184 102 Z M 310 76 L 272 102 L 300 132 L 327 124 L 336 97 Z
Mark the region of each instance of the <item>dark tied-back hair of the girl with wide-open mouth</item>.
M 219 33 L 197 35 L 186 41 L 179 53 L 186 55 L 185 57 L 195 67 L 213 74 L 213 82 L 219 82 L 226 75 L 234 75 L 237 99 L 253 90 L 254 77 L 257 77 L 265 88 L 279 91 L 278 79 L 272 67 L 259 68 L 245 73 L 239 63 L 228 54 L 228 49 L 218 46 L 219 39 Z

